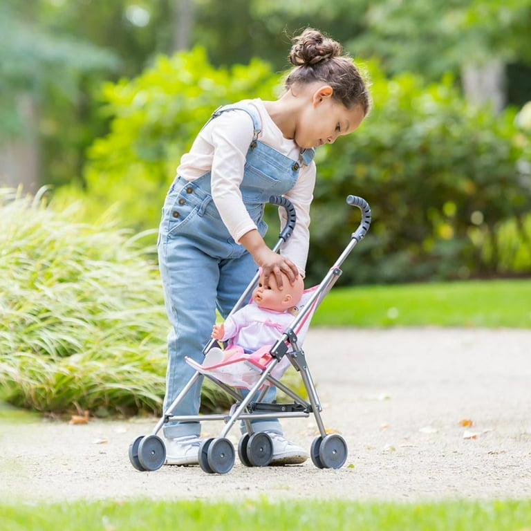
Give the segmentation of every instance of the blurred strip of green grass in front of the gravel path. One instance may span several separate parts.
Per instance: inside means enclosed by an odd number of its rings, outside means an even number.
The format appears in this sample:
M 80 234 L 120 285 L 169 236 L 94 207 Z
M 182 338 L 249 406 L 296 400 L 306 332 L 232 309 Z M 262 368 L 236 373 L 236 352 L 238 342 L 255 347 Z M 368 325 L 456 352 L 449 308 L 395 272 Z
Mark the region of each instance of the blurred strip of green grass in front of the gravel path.
M 274 496 L 274 493 L 272 493 Z M 531 501 L 358 503 L 281 501 L 239 504 L 203 501 L 131 501 L 66 505 L 0 505 L 9 531 L 524 531 Z

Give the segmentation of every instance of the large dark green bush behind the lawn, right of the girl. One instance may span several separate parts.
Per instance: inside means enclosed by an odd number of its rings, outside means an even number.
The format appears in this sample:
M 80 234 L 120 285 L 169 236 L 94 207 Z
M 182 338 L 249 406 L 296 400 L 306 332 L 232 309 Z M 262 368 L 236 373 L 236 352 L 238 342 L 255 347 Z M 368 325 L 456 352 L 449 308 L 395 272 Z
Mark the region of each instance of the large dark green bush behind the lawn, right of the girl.
M 530 142 L 514 111 L 496 116 L 467 104 L 450 78 L 426 86 L 404 73 L 386 80 L 371 66 L 375 107 L 348 142 L 318 150 L 310 263 L 324 270 L 339 230 L 354 228 L 347 194 L 371 204 L 373 224 L 343 281 L 467 278 L 529 270 Z M 527 161 L 527 162 L 525 162 Z M 521 168 L 521 170 L 519 169 Z M 354 209 L 357 210 L 357 209 Z M 505 252 L 499 230 L 514 220 Z M 488 252 L 487 252 L 488 250 Z

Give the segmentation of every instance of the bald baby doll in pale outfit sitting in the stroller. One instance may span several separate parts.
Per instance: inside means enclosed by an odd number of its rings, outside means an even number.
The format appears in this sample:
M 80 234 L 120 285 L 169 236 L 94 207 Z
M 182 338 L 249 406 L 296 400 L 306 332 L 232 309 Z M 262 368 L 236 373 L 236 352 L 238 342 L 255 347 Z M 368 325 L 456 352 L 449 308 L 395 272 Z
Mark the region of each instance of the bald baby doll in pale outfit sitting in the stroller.
M 235 354 L 253 353 L 263 346 L 277 342 L 280 335 L 291 324 L 294 307 L 299 304 L 304 292 L 304 281 L 300 274 L 291 284 L 283 275 L 283 288 L 280 290 L 274 274 L 265 283 L 263 275 L 252 292 L 252 304 L 236 310 L 224 323 L 214 324 L 212 337 L 220 341 L 232 339 L 232 346 L 222 351 L 211 348 L 203 365 L 213 365 L 227 360 Z

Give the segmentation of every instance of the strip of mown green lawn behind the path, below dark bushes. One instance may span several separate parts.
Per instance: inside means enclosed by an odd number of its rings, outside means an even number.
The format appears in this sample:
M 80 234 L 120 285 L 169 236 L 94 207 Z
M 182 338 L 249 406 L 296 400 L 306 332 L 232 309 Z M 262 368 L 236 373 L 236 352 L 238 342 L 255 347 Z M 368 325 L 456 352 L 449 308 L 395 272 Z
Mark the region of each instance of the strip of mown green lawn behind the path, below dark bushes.
M 531 280 L 335 288 L 313 326 L 531 328 Z

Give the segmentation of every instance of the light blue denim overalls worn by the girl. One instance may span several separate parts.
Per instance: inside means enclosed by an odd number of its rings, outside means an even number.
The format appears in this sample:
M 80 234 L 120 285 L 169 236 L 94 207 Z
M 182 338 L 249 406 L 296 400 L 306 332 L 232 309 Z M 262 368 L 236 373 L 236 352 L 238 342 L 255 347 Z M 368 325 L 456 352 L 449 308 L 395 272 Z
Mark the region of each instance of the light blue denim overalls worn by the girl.
M 292 160 L 258 140 L 261 125 L 257 111 L 245 104 L 220 107 L 212 118 L 231 109 L 247 112 L 252 118 L 254 137 L 246 155 L 240 186 L 243 203 L 263 236 L 267 230 L 264 203 L 271 195 L 285 194 L 297 182 L 301 162 Z M 304 164 L 313 158 L 313 149 L 301 153 Z M 243 245 L 230 236 L 210 192 L 210 171 L 193 181 L 177 177 L 162 208 L 158 236 L 158 260 L 167 314 L 171 323 L 168 335 L 166 373 L 167 410 L 194 369 L 184 357 L 201 363 L 202 350 L 209 341 L 216 320 L 216 306 L 226 317 L 247 288 L 257 265 Z M 201 400 L 201 382 L 187 393 L 174 411 L 176 415 L 196 415 Z M 266 400 L 274 398 L 274 388 Z M 260 420 L 255 431 L 282 433 L 278 420 Z M 165 425 L 166 438 L 199 435 L 198 422 Z

